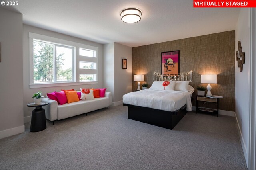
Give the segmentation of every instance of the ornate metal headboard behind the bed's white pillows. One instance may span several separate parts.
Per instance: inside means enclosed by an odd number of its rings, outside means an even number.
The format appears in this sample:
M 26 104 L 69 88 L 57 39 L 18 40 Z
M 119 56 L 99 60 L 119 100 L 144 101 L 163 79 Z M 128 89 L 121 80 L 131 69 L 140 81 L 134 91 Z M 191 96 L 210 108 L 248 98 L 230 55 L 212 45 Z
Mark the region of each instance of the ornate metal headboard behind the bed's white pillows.
M 180 75 L 169 75 L 169 74 L 161 74 L 154 72 L 153 73 L 153 80 L 154 81 L 189 81 L 193 82 L 193 71 L 180 73 Z

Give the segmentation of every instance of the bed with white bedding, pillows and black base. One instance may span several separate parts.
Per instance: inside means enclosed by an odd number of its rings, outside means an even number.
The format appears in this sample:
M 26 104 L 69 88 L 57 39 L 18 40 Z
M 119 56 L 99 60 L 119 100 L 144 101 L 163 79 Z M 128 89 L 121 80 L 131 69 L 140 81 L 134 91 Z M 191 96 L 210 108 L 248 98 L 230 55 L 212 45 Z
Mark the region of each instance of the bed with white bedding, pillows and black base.
M 146 90 L 123 96 L 128 107 L 128 119 L 173 129 L 192 110 L 191 96 L 194 88 L 188 81 L 155 81 Z

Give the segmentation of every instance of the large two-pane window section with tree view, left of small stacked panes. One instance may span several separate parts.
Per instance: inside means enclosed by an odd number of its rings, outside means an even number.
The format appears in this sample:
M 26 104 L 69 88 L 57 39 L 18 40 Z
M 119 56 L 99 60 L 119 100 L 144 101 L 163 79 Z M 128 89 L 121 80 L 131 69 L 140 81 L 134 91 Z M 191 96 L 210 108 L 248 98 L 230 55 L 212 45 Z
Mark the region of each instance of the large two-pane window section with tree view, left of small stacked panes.
M 74 47 L 34 39 L 34 84 L 72 82 Z

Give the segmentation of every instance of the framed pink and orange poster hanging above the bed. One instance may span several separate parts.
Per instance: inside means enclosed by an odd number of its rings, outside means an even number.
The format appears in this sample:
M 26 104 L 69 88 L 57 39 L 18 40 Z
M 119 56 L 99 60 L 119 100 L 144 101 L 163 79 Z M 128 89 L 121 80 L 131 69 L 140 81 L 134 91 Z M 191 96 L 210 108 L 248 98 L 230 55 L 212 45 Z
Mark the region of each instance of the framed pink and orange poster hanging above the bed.
M 161 73 L 166 75 L 179 75 L 180 50 L 161 53 Z

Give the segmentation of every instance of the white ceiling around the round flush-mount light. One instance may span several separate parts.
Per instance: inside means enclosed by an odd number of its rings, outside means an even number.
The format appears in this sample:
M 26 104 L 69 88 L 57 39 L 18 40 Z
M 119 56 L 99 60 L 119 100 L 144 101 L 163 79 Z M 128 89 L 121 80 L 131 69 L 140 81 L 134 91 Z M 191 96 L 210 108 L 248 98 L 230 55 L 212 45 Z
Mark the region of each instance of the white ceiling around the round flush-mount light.
M 20 0 L 4 6 L 28 25 L 129 47 L 234 30 L 240 8 L 193 8 L 193 0 Z M 142 10 L 138 23 L 123 23 L 120 11 Z

